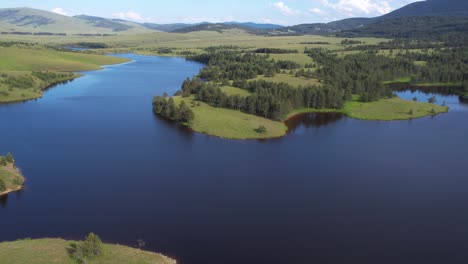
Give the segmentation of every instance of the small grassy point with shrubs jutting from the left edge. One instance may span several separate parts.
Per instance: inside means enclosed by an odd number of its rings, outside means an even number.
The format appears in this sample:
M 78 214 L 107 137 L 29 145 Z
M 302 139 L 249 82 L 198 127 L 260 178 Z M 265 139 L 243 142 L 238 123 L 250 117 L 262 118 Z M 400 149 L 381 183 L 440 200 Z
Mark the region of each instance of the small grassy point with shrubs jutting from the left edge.
M 0 196 L 21 190 L 24 181 L 21 171 L 15 166 L 13 155 L 7 153 L 0 156 Z

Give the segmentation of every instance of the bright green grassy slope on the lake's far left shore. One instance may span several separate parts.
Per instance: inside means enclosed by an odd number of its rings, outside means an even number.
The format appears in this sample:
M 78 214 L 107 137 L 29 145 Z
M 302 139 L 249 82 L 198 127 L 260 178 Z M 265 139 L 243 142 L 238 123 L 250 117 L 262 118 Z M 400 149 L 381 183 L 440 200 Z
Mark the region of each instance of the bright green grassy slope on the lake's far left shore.
M 39 44 L 0 44 L 0 103 L 39 98 L 51 85 L 81 76 L 74 72 L 97 70 L 102 65 L 127 61 Z

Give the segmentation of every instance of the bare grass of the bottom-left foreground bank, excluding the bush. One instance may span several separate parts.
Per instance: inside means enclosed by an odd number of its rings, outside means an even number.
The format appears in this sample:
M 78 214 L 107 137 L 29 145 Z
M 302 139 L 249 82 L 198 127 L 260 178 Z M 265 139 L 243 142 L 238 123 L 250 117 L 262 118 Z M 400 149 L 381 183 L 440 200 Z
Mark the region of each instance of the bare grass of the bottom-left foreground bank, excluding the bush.
M 18 240 L 0 243 L 0 262 L 8 264 L 74 264 L 67 253 L 72 241 L 63 239 Z M 175 264 L 160 254 L 119 245 L 104 244 L 104 254 L 87 263 L 95 264 Z

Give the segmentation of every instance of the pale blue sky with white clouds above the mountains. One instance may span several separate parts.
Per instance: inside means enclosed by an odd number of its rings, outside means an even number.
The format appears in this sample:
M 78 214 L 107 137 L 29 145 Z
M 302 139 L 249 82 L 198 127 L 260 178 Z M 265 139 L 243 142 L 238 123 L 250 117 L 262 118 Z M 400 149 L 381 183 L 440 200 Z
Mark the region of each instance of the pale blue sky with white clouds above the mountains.
M 33 7 L 64 15 L 138 22 L 260 22 L 294 25 L 373 17 L 415 0 L 1 0 L 0 7 Z

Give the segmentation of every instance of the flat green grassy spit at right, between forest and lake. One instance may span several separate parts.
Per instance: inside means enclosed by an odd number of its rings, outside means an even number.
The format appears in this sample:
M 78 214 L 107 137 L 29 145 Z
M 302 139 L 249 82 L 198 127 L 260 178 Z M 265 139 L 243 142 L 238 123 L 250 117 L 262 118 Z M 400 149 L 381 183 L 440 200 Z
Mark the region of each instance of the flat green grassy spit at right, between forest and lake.
M 412 110 L 412 114 L 410 113 Z M 434 110 L 434 112 L 432 112 Z M 406 120 L 433 114 L 446 113 L 448 107 L 429 103 L 413 102 L 401 98 L 382 99 L 377 102 L 347 102 L 343 113 L 363 120 Z

